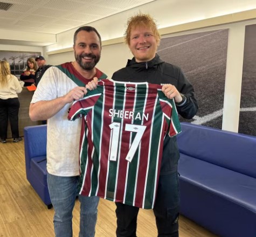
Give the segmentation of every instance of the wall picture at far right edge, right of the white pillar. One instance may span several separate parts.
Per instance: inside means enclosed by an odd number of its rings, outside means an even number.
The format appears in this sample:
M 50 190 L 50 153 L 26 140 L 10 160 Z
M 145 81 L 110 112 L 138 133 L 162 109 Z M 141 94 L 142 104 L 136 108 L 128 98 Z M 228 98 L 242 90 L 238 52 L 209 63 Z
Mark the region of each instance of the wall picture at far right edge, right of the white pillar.
M 238 132 L 256 136 L 256 24 L 245 27 L 243 78 Z

